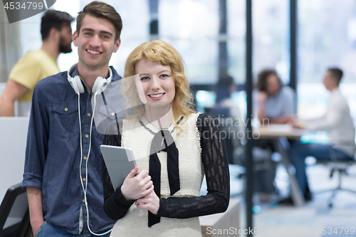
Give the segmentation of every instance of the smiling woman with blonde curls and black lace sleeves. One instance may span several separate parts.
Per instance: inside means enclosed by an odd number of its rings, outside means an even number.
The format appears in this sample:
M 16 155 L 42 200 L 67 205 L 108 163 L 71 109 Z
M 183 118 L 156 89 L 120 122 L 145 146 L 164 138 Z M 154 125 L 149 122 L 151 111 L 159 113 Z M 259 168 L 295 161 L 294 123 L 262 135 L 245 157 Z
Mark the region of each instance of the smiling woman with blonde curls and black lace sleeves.
M 216 118 L 190 108 L 182 58 L 163 41 L 135 48 L 122 80 L 134 115 L 110 126 L 104 144 L 130 147 L 137 167 L 114 190 L 103 162 L 104 209 L 117 220 L 111 236 L 201 236 L 198 216 L 229 205 Z M 204 174 L 208 194 L 199 196 Z

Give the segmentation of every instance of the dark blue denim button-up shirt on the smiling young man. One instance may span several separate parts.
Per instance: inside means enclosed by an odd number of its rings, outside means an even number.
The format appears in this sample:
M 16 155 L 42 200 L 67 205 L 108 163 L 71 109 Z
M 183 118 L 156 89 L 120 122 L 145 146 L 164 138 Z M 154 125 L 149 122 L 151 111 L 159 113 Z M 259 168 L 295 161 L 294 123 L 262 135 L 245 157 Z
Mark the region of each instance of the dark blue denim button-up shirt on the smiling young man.
M 78 75 L 75 69 L 72 76 Z M 112 68 L 112 81 L 121 77 Z M 87 200 L 91 231 L 103 233 L 112 228 L 112 221 L 103 209 L 103 181 L 100 144 L 104 135 L 93 122 L 90 156 L 91 93 L 80 94 L 83 157 L 80 157 L 78 95 L 67 80 L 67 72 L 52 75 L 38 82 L 33 90 L 31 116 L 28 125 L 25 169 L 22 187 L 42 189 L 43 216 L 46 221 L 68 232 L 80 232 L 80 212 L 83 214 L 83 234 L 87 227 L 84 192 L 80 179 L 85 178 L 88 161 Z M 80 159 L 83 159 L 80 167 Z M 80 177 L 79 170 L 82 176 Z

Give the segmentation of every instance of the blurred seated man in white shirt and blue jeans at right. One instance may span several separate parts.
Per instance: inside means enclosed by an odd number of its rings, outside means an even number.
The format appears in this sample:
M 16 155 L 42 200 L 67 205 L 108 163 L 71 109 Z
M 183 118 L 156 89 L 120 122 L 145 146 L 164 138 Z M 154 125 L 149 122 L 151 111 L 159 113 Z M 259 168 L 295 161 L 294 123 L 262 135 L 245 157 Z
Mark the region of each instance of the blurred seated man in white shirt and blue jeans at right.
M 339 90 L 342 70 L 330 68 L 325 73 L 323 83 L 330 90 L 330 102 L 323 117 L 305 121 L 310 130 L 326 130 L 328 144 L 292 144 L 290 161 L 295 167 L 300 189 L 308 196 L 308 179 L 305 174 L 305 157 L 321 160 L 352 160 L 355 153 L 355 127 L 350 116 L 350 108 Z

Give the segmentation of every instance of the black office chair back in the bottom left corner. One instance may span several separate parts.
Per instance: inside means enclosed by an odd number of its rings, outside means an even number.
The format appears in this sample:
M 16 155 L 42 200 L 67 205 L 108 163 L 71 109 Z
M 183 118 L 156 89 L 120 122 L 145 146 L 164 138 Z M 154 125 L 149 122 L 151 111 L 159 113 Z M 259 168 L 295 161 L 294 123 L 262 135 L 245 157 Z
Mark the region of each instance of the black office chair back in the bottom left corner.
M 26 190 L 21 183 L 11 186 L 0 206 L 0 237 L 31 236 Z

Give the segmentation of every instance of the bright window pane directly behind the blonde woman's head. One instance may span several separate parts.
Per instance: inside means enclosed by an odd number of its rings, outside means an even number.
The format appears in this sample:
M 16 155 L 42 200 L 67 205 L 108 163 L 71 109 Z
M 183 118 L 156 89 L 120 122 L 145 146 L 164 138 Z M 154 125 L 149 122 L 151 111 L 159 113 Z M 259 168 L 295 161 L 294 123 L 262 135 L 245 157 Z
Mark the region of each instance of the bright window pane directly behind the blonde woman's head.
M 181 53 L 190 83 L 214 84 L 218 75 L 219 1 L 159 1 L 159 38 Z

